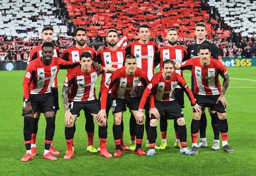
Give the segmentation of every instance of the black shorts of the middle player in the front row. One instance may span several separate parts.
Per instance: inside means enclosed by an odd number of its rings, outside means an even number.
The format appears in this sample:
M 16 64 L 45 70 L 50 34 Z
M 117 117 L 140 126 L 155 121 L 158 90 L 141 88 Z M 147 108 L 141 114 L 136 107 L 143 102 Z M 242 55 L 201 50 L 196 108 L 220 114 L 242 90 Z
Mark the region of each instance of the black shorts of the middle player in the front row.
M 113 113 L 124 112 L 126 110 L 126 106 L 129 108 L 129 110 L 137 111 L 139 103 L 139 97 L 115 98 L 112 100 L 112 111 Z

